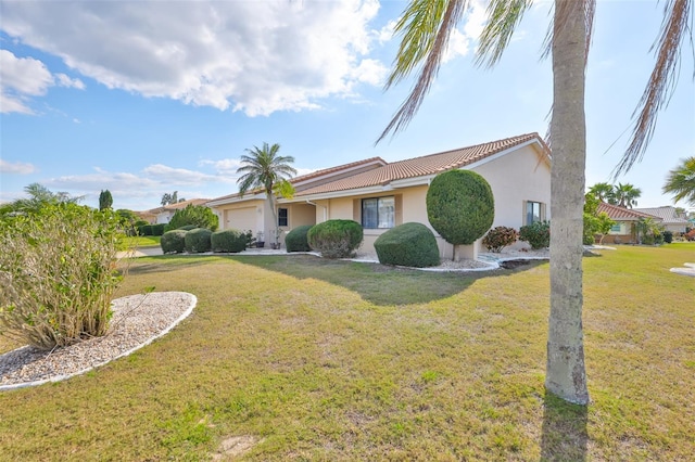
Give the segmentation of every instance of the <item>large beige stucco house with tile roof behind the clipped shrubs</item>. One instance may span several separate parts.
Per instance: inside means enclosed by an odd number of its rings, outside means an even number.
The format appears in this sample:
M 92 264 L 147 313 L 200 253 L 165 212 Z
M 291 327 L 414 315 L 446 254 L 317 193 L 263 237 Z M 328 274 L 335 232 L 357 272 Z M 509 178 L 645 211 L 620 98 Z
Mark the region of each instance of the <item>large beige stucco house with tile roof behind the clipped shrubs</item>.
M 278 200 L 278 222 L 287 232 L 329 219 L 352 219 L 364 228 L 361 252 L 374 253 L 375 240 L 390 228 L 415 221 L 431 229 L 426 206 L 429 183 L 455 168 L 476 171 L 490 183 L 495 198 L 493 227 L 518 230 L 549 219 L 551 153 L 538 133 L 528 133 L 392 163 L 371 157 L 293 178 L 294 196 Z M 217 214 L 220 229 L 263 232 L 266 241 L 271 240 L 275 223 L 263 192 L 217 197 L 207 206 Z M 451 258 L 453 246 L 434 234 L 440 255 Z M 479 248 L 480 241 L 465 246 L 460 255 L 475 257 Z

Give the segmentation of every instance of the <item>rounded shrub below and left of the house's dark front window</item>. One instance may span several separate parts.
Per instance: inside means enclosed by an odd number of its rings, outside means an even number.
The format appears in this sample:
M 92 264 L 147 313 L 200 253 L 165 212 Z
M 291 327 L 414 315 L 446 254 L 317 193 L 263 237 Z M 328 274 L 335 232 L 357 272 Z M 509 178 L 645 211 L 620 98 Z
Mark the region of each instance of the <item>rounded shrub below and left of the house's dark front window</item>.
M 308 245 L 326 258 L 346 258 L 362 244 L 362 224 L 353 220 L 328 220 L 312 227 Z

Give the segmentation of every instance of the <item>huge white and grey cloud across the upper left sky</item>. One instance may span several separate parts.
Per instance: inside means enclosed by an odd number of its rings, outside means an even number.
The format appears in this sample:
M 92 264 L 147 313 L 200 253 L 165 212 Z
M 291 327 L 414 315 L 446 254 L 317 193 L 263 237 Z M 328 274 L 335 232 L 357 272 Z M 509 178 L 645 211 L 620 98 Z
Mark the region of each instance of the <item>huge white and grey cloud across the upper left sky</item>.
M 9 2 L 2 28 L 109 88 L 254 116 L 380 85 L 369 57 L 378 10 L 377 0 Z

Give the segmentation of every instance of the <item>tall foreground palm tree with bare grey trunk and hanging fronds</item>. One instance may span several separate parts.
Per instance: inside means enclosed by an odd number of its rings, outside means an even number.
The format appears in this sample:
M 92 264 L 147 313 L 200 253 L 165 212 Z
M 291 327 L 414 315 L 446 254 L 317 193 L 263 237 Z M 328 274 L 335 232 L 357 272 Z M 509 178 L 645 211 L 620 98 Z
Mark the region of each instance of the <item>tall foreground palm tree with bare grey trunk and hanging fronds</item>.
M 494 65 L 532 0 L 491 0 L 481 34 L 478 63 Z M 679 48 L 688 30 L 692 0 L 668 0 L 657 43 L 657 63 L 635 111 L 632 142 L 617 167 L 627 171 L 640 159 L 656 117 L 678 80 Z M 405 128 L 439 70 L 451 33 L 467 0 L 410 0 L 395 31 L 403 36 L 387 88 L 418 69 L 416 84 L 383 130 Z M 584 80 L 595 0 L 555 0 L 546 54 L 553 61 L 551 171 L 551 316 L 545 387 L 571 402 L 589 402 L 582 333 L 582 205 L 586 159 Z M 378 142 L 378 141 L 377 141 Z

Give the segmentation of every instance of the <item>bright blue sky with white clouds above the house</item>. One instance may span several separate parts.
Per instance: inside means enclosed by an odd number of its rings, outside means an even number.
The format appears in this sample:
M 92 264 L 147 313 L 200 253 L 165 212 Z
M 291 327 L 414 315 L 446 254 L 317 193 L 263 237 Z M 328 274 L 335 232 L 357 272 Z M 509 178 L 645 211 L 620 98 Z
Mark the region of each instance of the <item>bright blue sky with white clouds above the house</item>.
M 384 91 L 402 1 L 0 0 L 0 201 L 38 182 L 98 206 L 147 210 L 162 195 L 238 191 L 247 149 L 278 143 L 300 174 L 387 162 L 528 132 L 545 136 L 552 67 L 542 60 L 552 2 L 538 1 L 502 61 L 475 64 L 484 0 L 452 37 L 415 119 L 375 145 L 413 80 Z M 598 0 L 586 74 L 586 184 L 612 182 L 655 57 L 665 2 Z M 637 207 L 695 154 L 695 53 L 644 159 L 615 182 Z M 677 206 L 686 207 L 679 203 Z

